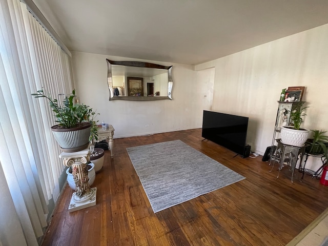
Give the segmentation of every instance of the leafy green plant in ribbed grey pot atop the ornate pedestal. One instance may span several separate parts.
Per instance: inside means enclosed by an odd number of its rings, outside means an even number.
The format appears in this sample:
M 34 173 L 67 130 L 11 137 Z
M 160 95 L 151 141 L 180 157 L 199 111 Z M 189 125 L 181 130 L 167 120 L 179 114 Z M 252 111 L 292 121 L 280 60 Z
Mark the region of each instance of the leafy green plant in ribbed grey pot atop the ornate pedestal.
M 64 152 L 76 152 L 89 146 L 90 138 L 93 139 L 97 134 L 94 121 L 96 113 L 89 106 L 76 103 L 75 90 L 66 95 L 61 104 L 44 90 L 38 90 L 31 95 L 48 99 L 55 122 L 58 123 L 52 126 L 51 130 Z

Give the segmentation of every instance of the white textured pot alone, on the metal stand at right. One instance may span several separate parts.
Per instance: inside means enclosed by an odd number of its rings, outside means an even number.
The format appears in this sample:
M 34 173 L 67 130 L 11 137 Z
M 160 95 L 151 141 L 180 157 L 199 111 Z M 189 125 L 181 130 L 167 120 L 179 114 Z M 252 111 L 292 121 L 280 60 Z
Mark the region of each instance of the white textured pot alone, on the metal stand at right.
M 310 130 L 295 130 L 290 127 L 282 127 L 280 132 L 281 142 L 285 145 L 302 147 L 308 140 L 309 134 Z

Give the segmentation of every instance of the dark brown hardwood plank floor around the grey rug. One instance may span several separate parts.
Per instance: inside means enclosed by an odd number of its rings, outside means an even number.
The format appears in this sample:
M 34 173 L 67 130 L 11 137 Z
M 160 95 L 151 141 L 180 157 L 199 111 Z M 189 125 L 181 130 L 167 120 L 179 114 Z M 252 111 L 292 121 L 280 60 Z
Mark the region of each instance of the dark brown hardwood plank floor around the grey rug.
M 245 179 L 154 214 L 126 148 L 176 139 Z M 201 129 L 114 139 L 92 185 L 96 206 L 68 213 L 67 185 L 42 245 L 285 245 L 328 207 L 319 180 L 296 171 L 292 184 L 288 167 L 276 179 L 262 156 L 234 157 L 202 139 Z

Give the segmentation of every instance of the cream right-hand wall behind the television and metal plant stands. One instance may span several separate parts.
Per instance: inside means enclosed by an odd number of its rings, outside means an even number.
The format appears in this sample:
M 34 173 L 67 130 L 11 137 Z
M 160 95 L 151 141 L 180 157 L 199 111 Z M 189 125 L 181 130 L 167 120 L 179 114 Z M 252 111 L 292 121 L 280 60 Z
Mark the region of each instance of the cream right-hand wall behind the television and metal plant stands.
M 328 24 L 197 65 L 215 68 L 213 111 L 250 117 L 248 142 L 271 146 L 280 92 L 305 86 L 304 128 L 328 130 Z

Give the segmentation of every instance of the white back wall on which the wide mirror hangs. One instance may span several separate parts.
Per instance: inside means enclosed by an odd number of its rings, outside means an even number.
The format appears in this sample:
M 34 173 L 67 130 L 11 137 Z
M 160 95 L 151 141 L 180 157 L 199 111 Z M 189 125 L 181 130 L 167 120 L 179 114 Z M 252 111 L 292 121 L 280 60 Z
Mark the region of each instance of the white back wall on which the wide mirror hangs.
M 106 58 L 137 60 L 72 52 L 72 67 L 80 102 L 100 113 L 99 122 L 105 120 L 114 127 L 114 138 L 201 128 L 202 111 L 212 105 L 214 69 L 195 72 L 189 65 L 140 60 L 173 65 L 173 100 L 109 101 Z

